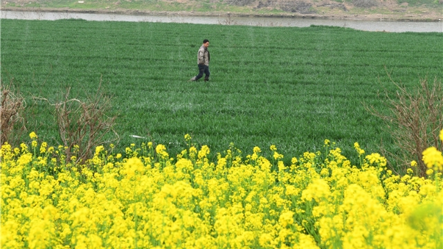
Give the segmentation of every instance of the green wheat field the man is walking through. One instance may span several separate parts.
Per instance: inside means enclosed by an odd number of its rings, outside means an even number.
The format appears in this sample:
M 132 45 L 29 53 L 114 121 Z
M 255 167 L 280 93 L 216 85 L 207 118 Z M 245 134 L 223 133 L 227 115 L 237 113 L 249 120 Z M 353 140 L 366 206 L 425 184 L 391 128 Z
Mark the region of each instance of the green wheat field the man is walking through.
M 197 50 L 210 41 L 210 82 Z M 395 138 L 364 105 L 386 111 L 390 81 L 415 89 L 443 76 L 443 33 L 374 33 L 350 28 L 1 20 L 1 80 L 26 98 L 28 131 L 61 144 L 49 103 L 101 91 L 117 116 L 116 147 L 153 141 L 178 154 L 183 136 L 223 151 L 275 145 L 285 160 L 325 139 L 344 154 Z M 390 77 L 388 77 L 388 74 Z M 46 98 L 48 101 L 33 100 Z M 24 133 L 24 139 L 28 133 Z M 143 136 L 134 138 L 132 135 Z

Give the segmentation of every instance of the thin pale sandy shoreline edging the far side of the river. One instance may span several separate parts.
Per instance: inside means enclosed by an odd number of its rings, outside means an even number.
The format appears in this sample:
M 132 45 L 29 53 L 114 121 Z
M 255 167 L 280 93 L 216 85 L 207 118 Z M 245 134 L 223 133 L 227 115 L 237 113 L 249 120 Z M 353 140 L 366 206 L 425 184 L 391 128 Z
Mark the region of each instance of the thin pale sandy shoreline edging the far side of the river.
M 75 8 L 30 8 L 30 7 L 3 7 L 1 10 L 28 11 L 28 12 L 76 12 L 89 14 L 118 14 L 118 15 L 174 15 L 196 17 L 282 17 L 282 18 L 305 18 L 305 19 L 347 19 L 354 21 L 442 21 L 442 17 L 425 15 L 395 15 L 395 14 L 370 14 L 370 15 L 345 15 L 345 14 L 300 14 L 281 13 L 279 15 L 242 13 L 242 12 L 198 12 L 198 11 L 152 11 L 152 10 L 129 10 L 129 9 L 75 9 Z

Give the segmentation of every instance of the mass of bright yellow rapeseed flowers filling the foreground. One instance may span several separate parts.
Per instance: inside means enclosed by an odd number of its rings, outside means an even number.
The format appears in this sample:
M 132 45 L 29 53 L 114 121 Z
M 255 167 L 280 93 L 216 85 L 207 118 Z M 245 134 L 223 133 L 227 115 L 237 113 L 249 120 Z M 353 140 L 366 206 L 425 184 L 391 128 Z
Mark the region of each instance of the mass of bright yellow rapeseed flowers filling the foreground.
M 46 142 L 34 152 L 5 144 L 0 246 L 442 248 L 437 152 L 424 156 L 435 170 L 426 179 L 392 174 L 358 144 L 362 163 L 352 166 L 330 145 L 284 165 L 275 146 L 271 160 L 259 147 L 211 160 L 207 146 L 170 158 L 150 142 L 126 156 L 97 147 L 78 165 Z

